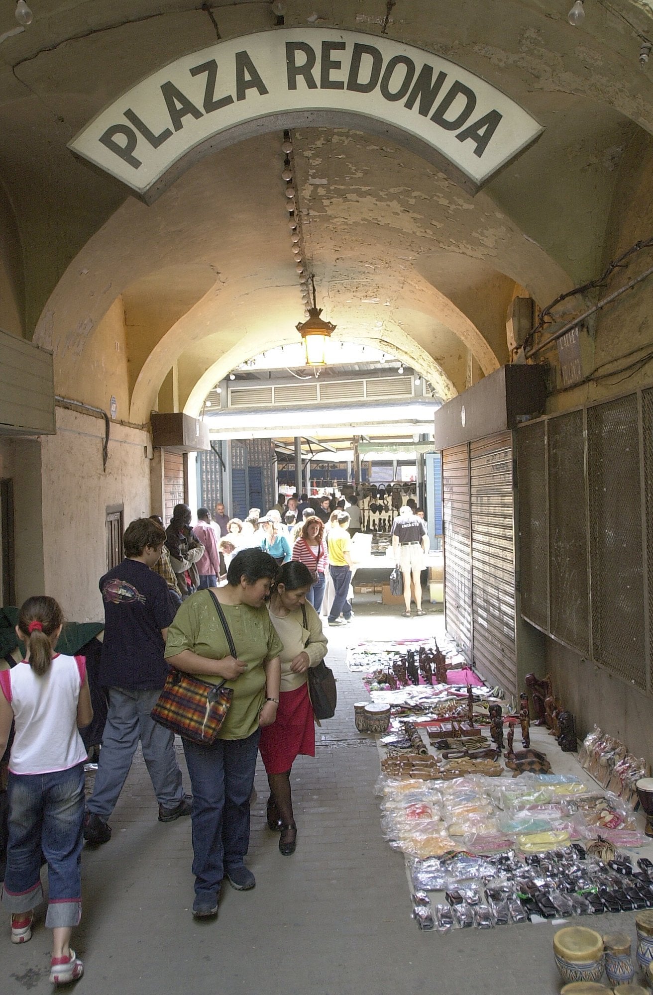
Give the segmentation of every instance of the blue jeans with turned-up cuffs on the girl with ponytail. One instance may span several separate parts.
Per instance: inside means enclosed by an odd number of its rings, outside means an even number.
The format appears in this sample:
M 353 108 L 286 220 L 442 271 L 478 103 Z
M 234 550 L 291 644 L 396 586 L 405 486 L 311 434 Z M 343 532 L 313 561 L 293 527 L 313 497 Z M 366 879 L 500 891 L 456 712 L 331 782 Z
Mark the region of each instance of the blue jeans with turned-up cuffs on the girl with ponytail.
M 48 862 L 46 925 L 76 926 L 82 914 L 84 764 L 52 774 L 9 774 L 9 845 L 2 904 L 27 912 L 43 901 L 41 852 Z

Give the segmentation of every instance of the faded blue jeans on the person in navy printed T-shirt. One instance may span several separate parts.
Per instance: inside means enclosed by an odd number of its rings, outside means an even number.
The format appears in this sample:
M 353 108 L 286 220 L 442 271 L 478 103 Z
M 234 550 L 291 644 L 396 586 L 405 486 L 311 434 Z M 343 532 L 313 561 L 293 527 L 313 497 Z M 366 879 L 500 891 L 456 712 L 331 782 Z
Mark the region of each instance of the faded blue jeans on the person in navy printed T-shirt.
M 174 736 L 151 717 L 160 691 L 109 688 L 109 711 L 98 761 L 98 773 L 89 799 L 89 811 L 105 822 L 122 790 L 138 740 L 159 805 L 179 805 L 184 792 L 174 752 Z

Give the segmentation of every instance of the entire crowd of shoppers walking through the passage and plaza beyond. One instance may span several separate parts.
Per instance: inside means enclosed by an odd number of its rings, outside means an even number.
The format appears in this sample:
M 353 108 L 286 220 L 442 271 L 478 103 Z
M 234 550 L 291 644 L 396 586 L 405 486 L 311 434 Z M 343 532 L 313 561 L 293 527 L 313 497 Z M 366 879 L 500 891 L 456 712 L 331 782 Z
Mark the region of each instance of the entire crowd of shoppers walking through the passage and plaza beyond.
M 87 751 L 79 728 L 93 719 L 82 657 L 56 652 L 63 612 L 53 598 L 28 599 L 17 635 L 25 660 L 0 673 L 0 755 L 13 730 L 9 760 L 9 835 L 2 904 L 11 940 L 32 936 L 48 865 L 46 925 L 53 929 L 50 979 L 67 984 L 84 965 L 71 947 L 82 912 L 83 841 L 109 842 L 109 818 L 140 743 L 158 803 L 158 820 L 190 816 L 195 898 L 192 914 L 217 914 L 223 880 L 255 887 L 245 864 L 257 754 L 268 775 L 267 822 L 279 850 L 291 856 L 298 827 L 291 771 L 298 755 L 315 756 L 307 675 L 327 654 L 321 609 L 332 584 L 329 625 L 352 617 L 351 532 L 360 528 L 352 499 L 290 497 L 261 517 L 229 518 L 175 505 L 167 528 L 156 515 L 138 518 L 123 536 L 124 559 L 100 580 L 105 635 L 100 684 L 108 715 L 93 792 L 85 803 Z M 423 520 L 403 507 L 392 530 L 404 575 L 421 609 L 419 571 L 427 548 Z M 174 736 L 152 719 L 169 669 L 231 689 L 233 697 L 211 746 L 182 736 L 192 788 L 184 792 Z

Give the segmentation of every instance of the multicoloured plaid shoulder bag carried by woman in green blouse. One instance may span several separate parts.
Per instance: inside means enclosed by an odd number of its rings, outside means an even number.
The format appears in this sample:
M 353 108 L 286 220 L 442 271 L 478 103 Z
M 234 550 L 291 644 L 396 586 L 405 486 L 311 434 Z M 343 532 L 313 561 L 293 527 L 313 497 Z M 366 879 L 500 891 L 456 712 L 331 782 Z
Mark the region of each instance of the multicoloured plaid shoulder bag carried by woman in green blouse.
M 237 658 L 236 647 L 222 605 L 213 591 L 209 591 L 209 594 L 220 616 L 229 652 L 232 657 Z M 212 746 L 218 738 L 220 726 L 234 697 L 233 689 L 225 688 L 224 684 L 224 681 L 217 685 L 211 684 L 170 667 L 163 691 L 152 708 L 152 718 L 177 735 L 192 739 L 201 746 Z

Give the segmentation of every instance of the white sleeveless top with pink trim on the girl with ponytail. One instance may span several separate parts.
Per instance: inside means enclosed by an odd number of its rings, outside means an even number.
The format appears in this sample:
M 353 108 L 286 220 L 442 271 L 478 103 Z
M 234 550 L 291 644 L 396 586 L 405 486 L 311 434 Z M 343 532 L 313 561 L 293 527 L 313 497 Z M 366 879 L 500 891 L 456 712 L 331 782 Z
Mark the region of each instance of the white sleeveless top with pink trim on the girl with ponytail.
M 87 750 L 77 727 L 77 703 L 86 669 L 84 657 L 55 654 L 41 678 L 25 661 L 0 673 L 0 691 L 15 720 L 9 757 L 13 774 L 51 774 L 84 763 Z

